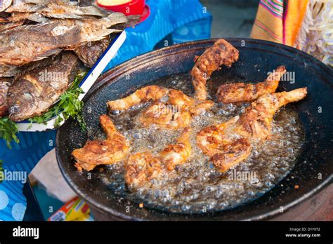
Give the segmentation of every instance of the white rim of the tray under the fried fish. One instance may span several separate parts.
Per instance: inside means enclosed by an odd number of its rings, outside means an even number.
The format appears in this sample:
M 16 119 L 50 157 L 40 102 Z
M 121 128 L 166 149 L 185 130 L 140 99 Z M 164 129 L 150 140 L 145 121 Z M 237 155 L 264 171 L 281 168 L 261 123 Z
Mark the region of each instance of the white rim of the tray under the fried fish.
M 84 98 L 84 95 L 89 91 L 91 86 L 93 86 L 93 83 L 98 79 L 100 74 L 103 72 L 107 64 L 112 60 L 113 57 L 115 57 L 117 51 L 122 46 L 126 39 L 126 32 L 122 32 L 117 37 L 117 40 L 112 44 L 112 46 L 106 51 L 106 53 L 103 53 L 102 57 L 98 62 L 96 62 L 96 65 L 91 69 L 91 71 L 87 74 L 86 77 L 84 77 L 83 83 L 81 83 L 81 88 L 84 91 L 81 95 L 79 95 L 79 100 L 82 100 Z M 60 116 L 63 117 L 63 114 L 60 114 Z M 54 129 L 54 123 L 56 118 L 52 118 L 50 121 L 48 121 L 46 124 L 39 124 L 39 123 L 30 123 L 29 121 L 22 121 L 19 123 L 16 123 L 18 126 L 18 131 L 25 131 L 25 132 L 34 132 L 34 131 L 44 131 L 44 130 L 53 130 Z M 60 126 L 65 121 L 60 123 Z

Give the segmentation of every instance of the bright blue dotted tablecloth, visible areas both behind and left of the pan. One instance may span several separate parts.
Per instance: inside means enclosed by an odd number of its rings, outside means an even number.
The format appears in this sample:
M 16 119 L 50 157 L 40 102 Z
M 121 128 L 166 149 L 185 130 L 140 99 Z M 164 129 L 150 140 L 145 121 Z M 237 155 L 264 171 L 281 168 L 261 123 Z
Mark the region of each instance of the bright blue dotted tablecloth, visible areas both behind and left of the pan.
M 171 34 L 173 43 L 208 39 L 211 15 L 198 0 L 147 0 L 150 16 L 135 28 L 126 29 L 126 41 L 107 65 L 111 69 L 121 62 L 146 53 Z M 165 43 L 171 45 L 172 43 Z M 25 176 L 55 145 L 55 130 L 39 133 L 18 133 L 20 144 L 0 140 L 0 160 L 7 174 L 18 172 L 19 180 L 0 183 L 0 220 L 22 220 L 26 201 L 22 194 Z M 22 174 L 23 173 L 23 174 Z M 26 175 L 25 175 L 26 174 Z

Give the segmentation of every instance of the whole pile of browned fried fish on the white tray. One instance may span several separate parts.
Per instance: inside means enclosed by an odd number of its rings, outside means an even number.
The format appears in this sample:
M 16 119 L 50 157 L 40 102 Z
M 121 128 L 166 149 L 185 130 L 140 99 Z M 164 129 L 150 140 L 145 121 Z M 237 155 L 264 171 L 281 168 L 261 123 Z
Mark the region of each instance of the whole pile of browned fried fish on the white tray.
M 121 32 L 128 20 L 67 0 L 1 0 L 0 118 L 22 121 L 46 112 L 81 62 L 92 67 L 110 34 Z

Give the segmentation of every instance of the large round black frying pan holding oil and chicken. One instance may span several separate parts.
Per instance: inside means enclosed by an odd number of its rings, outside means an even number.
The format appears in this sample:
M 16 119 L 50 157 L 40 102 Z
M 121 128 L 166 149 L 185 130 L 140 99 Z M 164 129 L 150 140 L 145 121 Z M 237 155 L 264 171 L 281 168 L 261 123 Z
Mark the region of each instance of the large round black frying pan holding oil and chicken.
M 182 215 L 140 209 L 137 203 L 112 194 L 98 179 L 98 170 L 91 172 L 91 179 L 88 179 L 87 172 L 77 172 L 70 153 L 86 142 L 87 135 L 81 133 L 77 122 L 69 120 L 57 133 L 56 155 L 60 170 L 70 187 L 91 207 L 104 212 L 105 219 L 263 219 L 277 215 L 281 207 L 284 211 L 292 208 L 332 182 L 332 69 L 311 55 L 278 43 L 254 39 L 226 40 L 240 51 L 240 59 L 230 69 L 223 68 L 220 72 L 215 72 L 215 76 L 221 76 L 222 79 L 223 76 L 235 76 L 237 79 L 263 81 L 268 71 L 285 65 L 287 71 L 295 72 L 295 83 L 280 82 L 280 90 L 308 87 L 306 99 L 294 104 L 306 130 L 303 153 L 297 158 L 295 168 L 272 190 L 255 201 L 232 210 Z M 84 118 L 90 128 L 89 132 L 93 134 L 99 127 L 98 117 L 107 112 L 107 100 L 128 95 L 162 76 L 190 72 L 195 55 L 200 55 L 214 41 L 216 40 L 194 41 L 155 50 L 106 72 L 84 98 Z M 299 189 L 294 189 L 295 184 L 299 185 Z

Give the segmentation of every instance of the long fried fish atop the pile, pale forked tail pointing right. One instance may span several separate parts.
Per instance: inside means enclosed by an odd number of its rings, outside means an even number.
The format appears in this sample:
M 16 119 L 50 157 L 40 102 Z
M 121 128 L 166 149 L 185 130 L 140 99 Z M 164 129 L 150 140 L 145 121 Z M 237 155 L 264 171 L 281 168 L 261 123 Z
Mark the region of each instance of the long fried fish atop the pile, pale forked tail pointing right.
M 20 66 L 74 50 L 89 41 L 99 41 L 118 29 L 112 25 L 127 22 L 122 13 L 106 18 L 85 20 L 52 20 L 37 25 L 23 25 L 0 33 L 0 65 Z

